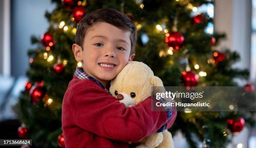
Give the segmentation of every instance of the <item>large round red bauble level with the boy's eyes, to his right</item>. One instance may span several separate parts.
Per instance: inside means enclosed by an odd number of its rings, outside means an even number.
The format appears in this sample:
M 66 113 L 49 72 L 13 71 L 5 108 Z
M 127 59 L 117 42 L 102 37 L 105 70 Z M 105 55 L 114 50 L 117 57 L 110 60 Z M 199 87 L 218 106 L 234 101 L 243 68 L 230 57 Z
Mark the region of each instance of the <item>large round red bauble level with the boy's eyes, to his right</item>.
M 179 50 L 184 43 L 184 37 L 179 32 L 171 32 L 169 37 L 165 37 L 165 42 L 169 47 Z

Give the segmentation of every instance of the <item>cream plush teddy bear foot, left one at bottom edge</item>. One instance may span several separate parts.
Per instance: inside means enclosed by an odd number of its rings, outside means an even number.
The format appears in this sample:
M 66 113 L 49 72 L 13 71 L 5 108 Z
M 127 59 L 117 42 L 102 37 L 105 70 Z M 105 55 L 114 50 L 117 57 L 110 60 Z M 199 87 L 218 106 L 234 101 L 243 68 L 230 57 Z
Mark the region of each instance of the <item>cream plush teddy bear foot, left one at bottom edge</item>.
M 163 141 L 163 134 L 162 133 L 154 133 L 152 135 L 149 135 L 146 140 L 146 145 L 149 148 L 154 148 L 158 146 Z

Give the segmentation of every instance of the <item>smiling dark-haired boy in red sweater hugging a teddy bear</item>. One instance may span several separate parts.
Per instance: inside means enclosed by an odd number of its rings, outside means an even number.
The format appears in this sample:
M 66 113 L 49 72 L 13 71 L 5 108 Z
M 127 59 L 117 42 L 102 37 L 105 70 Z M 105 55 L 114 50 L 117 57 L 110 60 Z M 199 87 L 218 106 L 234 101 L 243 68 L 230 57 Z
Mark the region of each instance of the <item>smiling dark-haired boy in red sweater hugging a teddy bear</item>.
M 150 98 L 125 108 L 108 91 L 110 80 L 133 60 L 136 39 L 136 26 L 117 10 L 96 10 L 80 20 L 72 49 L 83 68 L 76 69 L 62 106 L 66 148 L 128 148 L 125 141 L 173 124 L 177 112 L 167 120 L 170 114 L 151 111 Z

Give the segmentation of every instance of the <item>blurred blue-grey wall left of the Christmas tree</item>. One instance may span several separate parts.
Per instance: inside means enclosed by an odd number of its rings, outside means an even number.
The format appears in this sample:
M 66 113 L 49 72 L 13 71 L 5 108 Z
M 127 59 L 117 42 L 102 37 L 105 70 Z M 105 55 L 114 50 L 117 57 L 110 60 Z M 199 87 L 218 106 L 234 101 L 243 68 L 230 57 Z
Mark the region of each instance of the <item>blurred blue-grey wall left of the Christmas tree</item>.
M 31 35 L 44 34 L 49 23 L 45 11 L 52 11 L 55 5 L 51 0 L 12 0 L 11 1 L 11 75 L 26 75 L 29 67 L 27 51 L 31 45 Z

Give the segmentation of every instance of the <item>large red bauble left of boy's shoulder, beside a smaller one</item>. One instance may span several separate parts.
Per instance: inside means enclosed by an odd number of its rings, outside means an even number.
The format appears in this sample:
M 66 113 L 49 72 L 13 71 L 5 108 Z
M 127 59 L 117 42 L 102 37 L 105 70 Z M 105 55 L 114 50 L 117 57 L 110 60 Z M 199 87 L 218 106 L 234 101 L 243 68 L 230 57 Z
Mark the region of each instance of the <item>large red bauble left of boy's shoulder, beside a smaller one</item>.
M 44 97 L 45 93 L 46 87 L 44 86 L 44 81 L 35 83 L 35 85 L 33 85 L 31 90 L 29 91 L 32 103 L 37 104 L 38 101 Z

